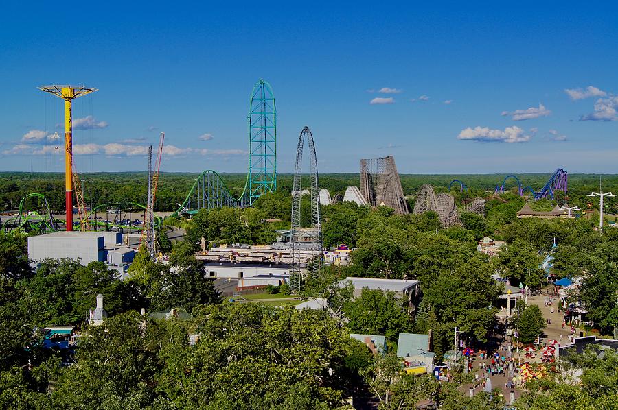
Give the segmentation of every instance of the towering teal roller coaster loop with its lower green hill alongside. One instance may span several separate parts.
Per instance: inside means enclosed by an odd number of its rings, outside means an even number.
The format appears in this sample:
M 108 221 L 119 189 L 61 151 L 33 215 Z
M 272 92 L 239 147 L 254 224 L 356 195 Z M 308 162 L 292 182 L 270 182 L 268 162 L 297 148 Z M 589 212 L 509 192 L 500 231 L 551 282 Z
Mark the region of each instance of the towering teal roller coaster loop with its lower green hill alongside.
M 277 189 L 277 109 L 268 82 L 260 80 L 251 91 L 249 115 L 249 167 L 242 193 L 235 197 L 221 176 L 211 169 L 196 178 L 173 217 L 192 215 L 202 208 L 251 206 L 264 193 Z

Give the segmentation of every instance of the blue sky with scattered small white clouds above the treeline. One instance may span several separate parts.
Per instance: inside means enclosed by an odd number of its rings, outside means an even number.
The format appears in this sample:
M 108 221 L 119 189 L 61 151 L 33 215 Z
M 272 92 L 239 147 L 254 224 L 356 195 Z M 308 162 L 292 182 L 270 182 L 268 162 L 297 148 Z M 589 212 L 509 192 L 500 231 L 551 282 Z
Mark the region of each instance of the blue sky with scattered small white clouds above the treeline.
M 146 169 L 161 131 L 162 171 L 246 171 L 263 77 L 281 172 L 304 125 L 324 173 L 389 154 L 401 173 L 617 172 L 608 2 L 211 3 L 5 5 L 0 169 L 62 171 L 62 101 L 36 86 L 82 83 L 100 91 L 74 102 L 78 171 Z

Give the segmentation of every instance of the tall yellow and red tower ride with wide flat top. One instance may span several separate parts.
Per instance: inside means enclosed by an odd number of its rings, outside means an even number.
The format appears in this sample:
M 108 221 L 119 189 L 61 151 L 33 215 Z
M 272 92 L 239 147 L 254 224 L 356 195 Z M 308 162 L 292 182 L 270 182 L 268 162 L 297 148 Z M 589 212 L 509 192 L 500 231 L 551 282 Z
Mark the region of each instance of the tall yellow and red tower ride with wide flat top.
M 97 91 L 97 88 L 83 86 L 41 86 L 39 90 L 56 95 L 65 100 L 65 206 L 67 230 L 73 230 L 73 99 Z

